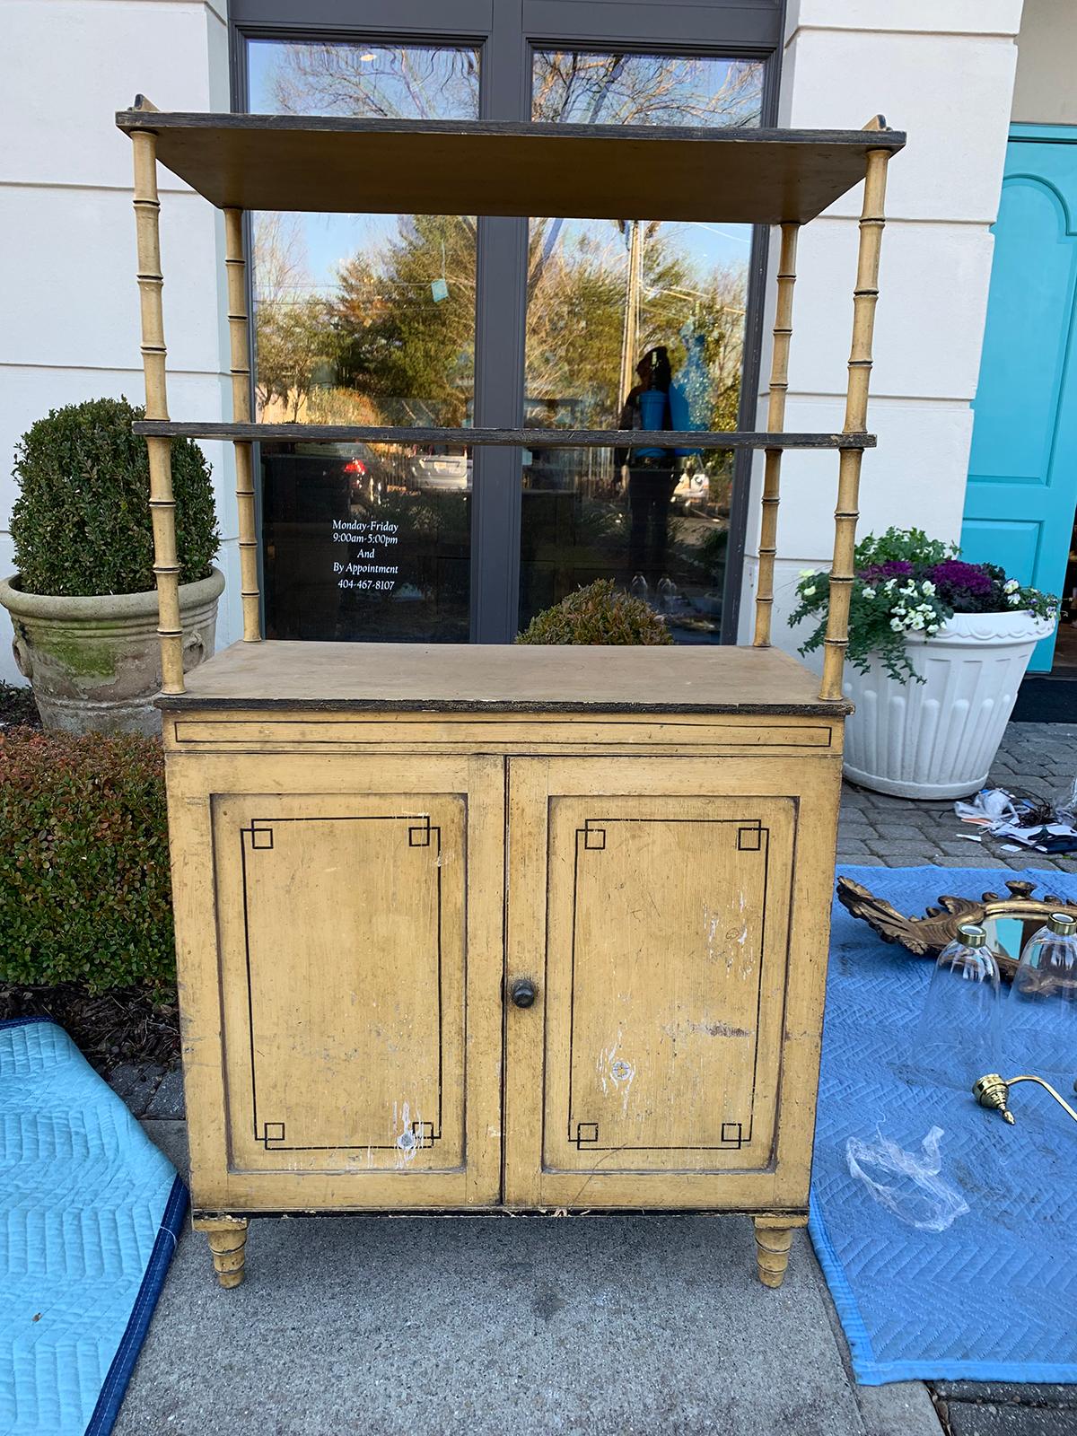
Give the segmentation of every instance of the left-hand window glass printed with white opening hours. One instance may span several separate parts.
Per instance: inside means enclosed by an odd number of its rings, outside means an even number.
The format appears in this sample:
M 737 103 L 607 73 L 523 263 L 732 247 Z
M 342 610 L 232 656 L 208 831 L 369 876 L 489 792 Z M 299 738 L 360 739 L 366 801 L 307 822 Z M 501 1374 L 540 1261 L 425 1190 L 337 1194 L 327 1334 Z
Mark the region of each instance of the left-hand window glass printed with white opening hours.
M 250 40 L 257 113 L 478 116 L 470 46 Z M 460 428 L 475 372 L 475 220 L 256 214 L 263 422 Z M 465 642 L 471 454 L 263 444 L 270 638 Z

